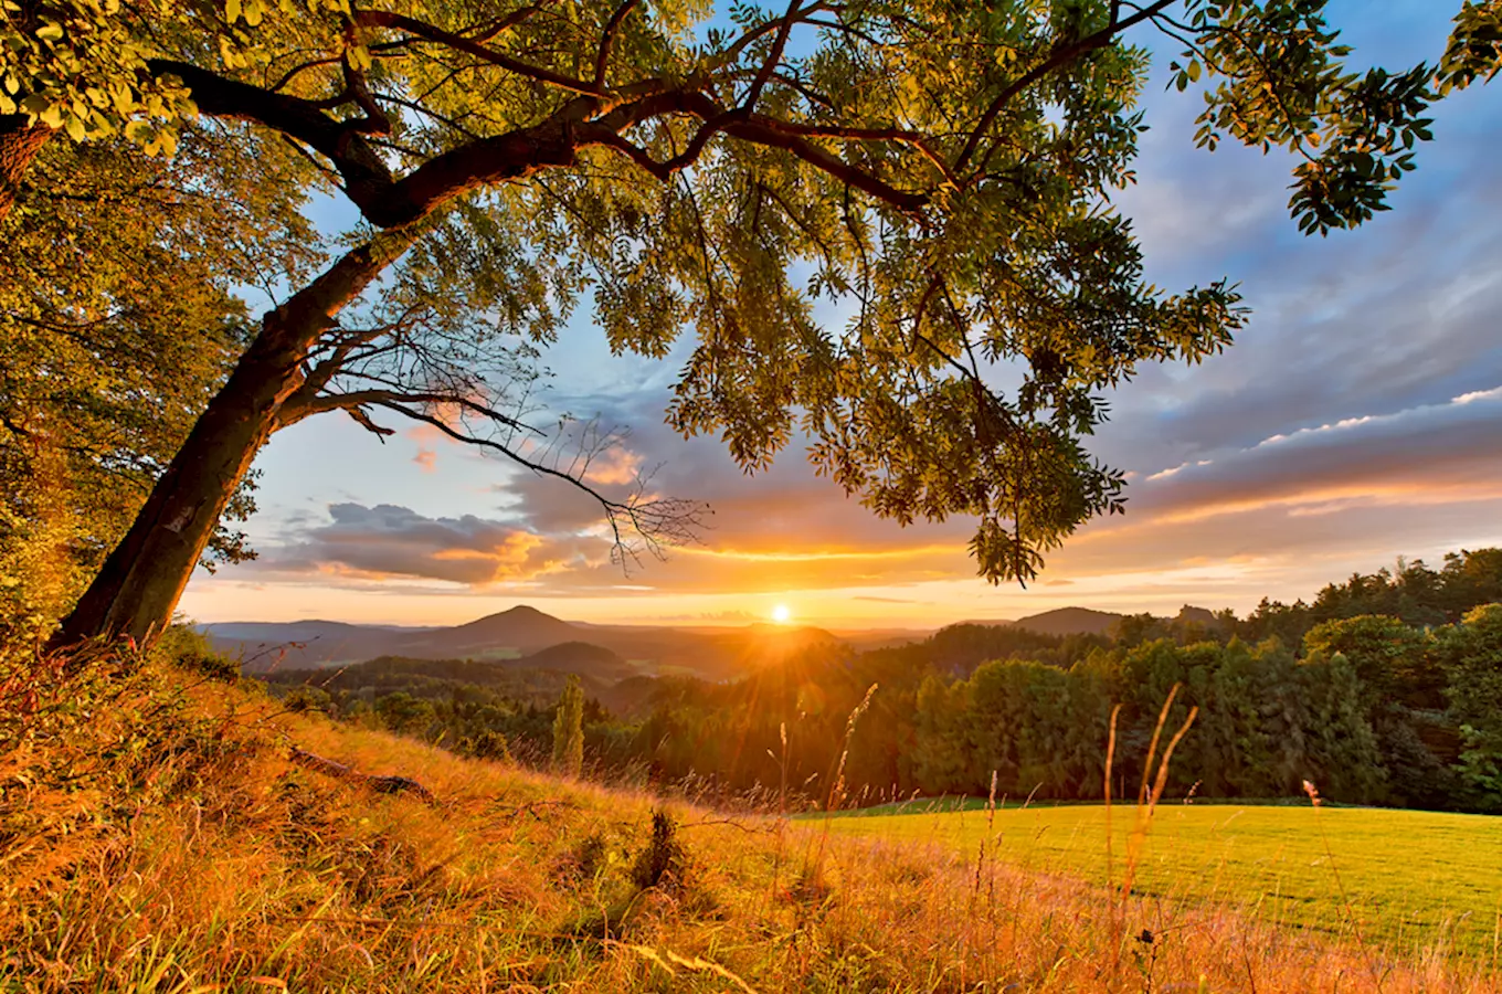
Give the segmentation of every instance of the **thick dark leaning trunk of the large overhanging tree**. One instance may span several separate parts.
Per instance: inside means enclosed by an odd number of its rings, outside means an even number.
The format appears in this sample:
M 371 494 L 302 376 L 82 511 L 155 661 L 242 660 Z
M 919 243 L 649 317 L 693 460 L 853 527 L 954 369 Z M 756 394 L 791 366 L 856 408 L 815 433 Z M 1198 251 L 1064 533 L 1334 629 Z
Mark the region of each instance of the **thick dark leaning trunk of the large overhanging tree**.
M 302 386 L 309 350 L 412 237 L 410 230 L 376 236 L 263 318 L 260 335 L 53 637 L 53 649 L 92 638 L 147 641 L 167 628 L 234 488 L 279 426 L 282 402 Z

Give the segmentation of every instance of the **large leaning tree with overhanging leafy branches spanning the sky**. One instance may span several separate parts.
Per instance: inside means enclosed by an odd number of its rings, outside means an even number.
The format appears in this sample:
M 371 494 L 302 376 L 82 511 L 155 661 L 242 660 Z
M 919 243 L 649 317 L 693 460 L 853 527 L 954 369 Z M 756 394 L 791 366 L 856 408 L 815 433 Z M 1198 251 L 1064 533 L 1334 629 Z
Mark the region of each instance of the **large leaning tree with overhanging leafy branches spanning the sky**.
M 1292 207 L 1311 231 L 1383 209 L 1427 138 L 1433 77 L 1347 72 L 1308 0 L 1074 0 L 1047 18 L 792 0 L 697 36 L 697 5 L 635 0 L 170 14 L 161 32 L 122 18 L 105 75 L 129 66 L 291 143 L 368 227 L 261 318 L 62 643 L 159 629 L 255 452 L 321 411 L 379 434 L 380 416 L 413 417 L 568 476 L 520 443 L 515 353 L 494 332 L 545 339 L 589 288 L 617 350 L 664 354 L 697 330 L 668 411 L 683 432 L 719 432 L 757 468 L 804 431 L 876 514 L 972 515 L 981 574 L 1032 578 L 1122 509 L 1120 473 L 1081 444 L 1096 392 L 1143 362 L 1197 362 L 1244 320 L 1227 282 L 1148 285 L 1108 206 L 1142 120 L 1146 54 L 1123 35 L 1179 38 L 1178 84 L 1215 81 L 1202 144 L 1302 153 Z M 8 24 L 80 48 L 72 27 Z M 62 56 L 44 48 L 6 72 L 51 114 L 39 81 Z M 850 321 L 819 324 L 819 299 Z M 1008 393 L 988 368 L 1012 360 Z M 649 541 L 692 524 L 688 505 L 602 503 Z

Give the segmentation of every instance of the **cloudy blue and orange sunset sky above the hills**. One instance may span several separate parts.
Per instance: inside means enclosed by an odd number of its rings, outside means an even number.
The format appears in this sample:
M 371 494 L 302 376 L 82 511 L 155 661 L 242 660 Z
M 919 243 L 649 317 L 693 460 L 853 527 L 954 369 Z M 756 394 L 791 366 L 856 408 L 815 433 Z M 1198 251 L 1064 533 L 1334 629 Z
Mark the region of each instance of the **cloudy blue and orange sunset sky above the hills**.
M 1343 0 L 1358 62 L 1433 60 L 1455 3 Z M 1139 38 L 1137 41 L 1148 41 Z M 623 569 L 598 508 L 430 428 L 380 441 L 342 414 L 276 434 L 257 459 L 252 563 L 195 574 L 200 622 L 321 617 L 446 625 L 529 604 L 583 622 L 795 620 L 936 628 L 1057 607 L 1245 614 L 1311 598 L 1400 556 L 1502 545 L 1502 83 L 1452 96 L 1436 140 L 1355 233 L 1299 236 L 1290 161 L 1194 147 L 1199 98 L 1157 59 L 1139 183 L 1117 198 L 1148 276 L 1229 276 L 1251 323 L 1199 366 L 1148 366 L 1108 395 L 1090 452 L 1126 471 L 1128 511 L 1081 527 L 1039 580 L 991 586 L 973 524 L 900 529 L 814 476 L 798 444 L 742 473 L 715 438 L 662 423 L 688 342 L 664 360 L 610 354 L 587 308 L 544 356 L 548 407 L 629 429 L 587 477 L 707 502 L 694 545 Z M 338 221 L 330 210 L 327 224 Z

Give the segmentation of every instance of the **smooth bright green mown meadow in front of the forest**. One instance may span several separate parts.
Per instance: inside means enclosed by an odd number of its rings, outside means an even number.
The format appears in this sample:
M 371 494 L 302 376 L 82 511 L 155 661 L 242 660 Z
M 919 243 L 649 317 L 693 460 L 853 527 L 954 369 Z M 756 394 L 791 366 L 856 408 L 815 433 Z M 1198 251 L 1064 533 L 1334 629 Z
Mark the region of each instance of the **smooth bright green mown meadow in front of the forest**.
M 1111 809 L 1120 884 L 1136 809 Z M 829 820 L 832 832 L 930 841 L 978 859 L 1105 883 L 1105 809 L 984 808 Z M 1328 844 L 1328 848 L 1326 848 Z M 1352 935 L 1412 953 L 1443 946 L 1491 959 L 1502 929 L 1502 818 L 1373 808 L 1163 805 L 1152 817 L 1136 886 L 1142 893 L 1218 902 L 1278 925 Z M 1341 892 L 1344 890 L 1344 898 Z M 1347 910 L 1349 901 L 1349 910 Z

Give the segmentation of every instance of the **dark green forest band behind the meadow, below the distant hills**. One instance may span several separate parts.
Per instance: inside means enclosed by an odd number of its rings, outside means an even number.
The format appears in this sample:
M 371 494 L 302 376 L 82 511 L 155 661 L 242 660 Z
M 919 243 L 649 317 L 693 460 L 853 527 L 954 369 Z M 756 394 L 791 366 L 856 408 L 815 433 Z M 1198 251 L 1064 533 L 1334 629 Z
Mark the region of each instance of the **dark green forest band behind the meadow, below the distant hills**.
M 1502 551 L 1481 550 L 1439 571 L 1413 562 L 1355 575 L 1313 604 L 1263 601 L 1247 619 L 1128 616 L 1111 637 L 1065 638 L 957 625 L 867 653 L 816 646 L 733 683 L 586 682 L 586 749 L 596 770 L 813 803 L 831 796 L 841 757 L 840 794 L 855 803 L 985 794 L 993 776 L 999 796 L 1089 800 L 1104 791 L 1120 706 L 1113 794 L 1136 797 L 1179 685 L 1164 737 L 1191 707 L 1199 715 L 1169 796 L 1290 797 L 1307 779 L 1338 802 L 1497 811 L 1499 601 Z M 323 689 L 290 700 L 482 755 L 509 743 L 526 758 L 548 754 L 550 701 L 566 677 L 376 661 L 320 679 Z

